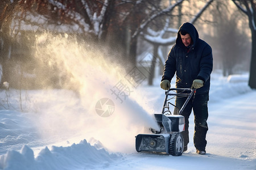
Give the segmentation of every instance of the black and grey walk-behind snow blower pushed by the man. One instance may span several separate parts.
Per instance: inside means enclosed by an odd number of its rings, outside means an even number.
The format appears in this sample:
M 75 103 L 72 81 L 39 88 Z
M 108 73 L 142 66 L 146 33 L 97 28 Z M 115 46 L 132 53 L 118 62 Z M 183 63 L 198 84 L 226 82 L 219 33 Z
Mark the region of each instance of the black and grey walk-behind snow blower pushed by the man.
M 151 134 L 138 134 L 135 137 L 137 152 L 158 152 L 172 156 L 182 155 L 184 141 L 181 131 L 185 129 L 185 119 L 182 116 L 182 112 L 195 92 L 195 89 L 192 90 L 190 88 L 170 88 L 165 92 L 166 97 L 162 113 L 154 114 L 160 130 L 150 128 Z M 187 97 L 183 107 L 181 107 L 180 111 L 178 110 L 179 114 L 177 115 L 172 114 L 170 111 L 171 105 L 176 107 L 170 100 L 176 97 Z

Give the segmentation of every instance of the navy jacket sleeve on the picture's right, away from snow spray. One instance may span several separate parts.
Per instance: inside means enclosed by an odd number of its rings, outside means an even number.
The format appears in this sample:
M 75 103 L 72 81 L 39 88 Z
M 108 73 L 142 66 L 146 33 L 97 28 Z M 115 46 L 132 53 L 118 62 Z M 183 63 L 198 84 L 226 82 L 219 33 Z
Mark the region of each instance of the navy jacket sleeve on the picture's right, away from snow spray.
M 205 46 L 203 50 L 203 55 L 200 60 L 200 72 L 197 75 L 197 79 L 201 79 L 206 82 L 210 73 L 212 73 L 213 69 L 213 57 L 212 57 L 212 48 L 209 45 Z

